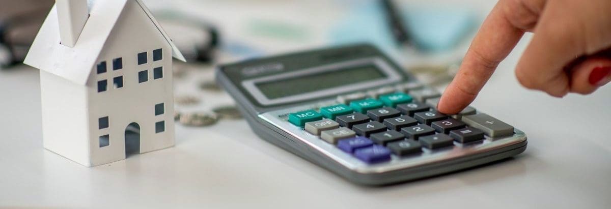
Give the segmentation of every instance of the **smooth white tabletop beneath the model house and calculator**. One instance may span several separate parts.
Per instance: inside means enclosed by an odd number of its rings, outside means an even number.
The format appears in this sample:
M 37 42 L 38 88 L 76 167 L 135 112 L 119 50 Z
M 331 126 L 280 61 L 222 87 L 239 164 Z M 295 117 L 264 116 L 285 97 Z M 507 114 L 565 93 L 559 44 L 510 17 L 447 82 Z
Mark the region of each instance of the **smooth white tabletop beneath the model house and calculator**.
M 610 208 L 611 86 L 562 99 L 523 89 L 513 68 L 526 43 L 474 106 L 525 131 L 528 149 L 381 188 L 268 144 L 244 120 L 178 125 L 175 147 L 83 167 L 42 147 L 38 70 L 0 71 L 0 208 Z

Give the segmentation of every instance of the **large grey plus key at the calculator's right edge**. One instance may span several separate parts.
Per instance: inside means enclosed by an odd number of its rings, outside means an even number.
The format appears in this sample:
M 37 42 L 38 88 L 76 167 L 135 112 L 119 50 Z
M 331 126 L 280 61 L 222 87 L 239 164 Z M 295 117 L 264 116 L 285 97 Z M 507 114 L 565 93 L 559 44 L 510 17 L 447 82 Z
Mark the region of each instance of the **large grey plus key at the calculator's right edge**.
M 488 114 L 480 113 L 472 116 L 463 116 L 463 122 L 484 131 L 490 137 L 513 135 L 513 127 L 511 125 L 488 116 Z

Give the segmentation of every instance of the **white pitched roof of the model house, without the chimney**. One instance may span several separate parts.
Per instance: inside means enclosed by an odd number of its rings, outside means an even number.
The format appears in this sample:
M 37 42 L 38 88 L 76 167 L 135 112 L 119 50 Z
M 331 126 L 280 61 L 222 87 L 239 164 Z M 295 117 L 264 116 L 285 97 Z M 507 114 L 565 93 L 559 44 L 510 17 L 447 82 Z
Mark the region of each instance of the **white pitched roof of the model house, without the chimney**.
M 57 9 L 56 6 L 53 6 L 40 31 L 38 31 L 24 64 L 85 85 L 93 65 L 95 65 L 103 50 L 104 43 L 106 43 L 112 28 L 117 23 L 127 1 L 136 1 L 140 5 L 172 47 L 172 57 L 184 62 L 185 57 L 178 51 L 178 48 L 172 43 L 170 37 L 159 26 L 159 23 L 153 18 L 153 15 L 141 0 L 94 0 L 90 2 L 92 4 L 90 4 L 89 19 L 87 19 L 87 23 L 73 48 L 59 43 Z

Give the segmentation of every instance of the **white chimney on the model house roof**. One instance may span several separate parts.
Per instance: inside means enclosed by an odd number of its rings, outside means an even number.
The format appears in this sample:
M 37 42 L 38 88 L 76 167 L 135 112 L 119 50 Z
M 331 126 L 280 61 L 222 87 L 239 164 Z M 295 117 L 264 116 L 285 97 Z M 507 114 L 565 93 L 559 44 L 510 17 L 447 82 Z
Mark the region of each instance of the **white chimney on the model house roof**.
M 87 0 L 56 0 L 59 37 L 62 45 L 73 47 L 89 18 Z

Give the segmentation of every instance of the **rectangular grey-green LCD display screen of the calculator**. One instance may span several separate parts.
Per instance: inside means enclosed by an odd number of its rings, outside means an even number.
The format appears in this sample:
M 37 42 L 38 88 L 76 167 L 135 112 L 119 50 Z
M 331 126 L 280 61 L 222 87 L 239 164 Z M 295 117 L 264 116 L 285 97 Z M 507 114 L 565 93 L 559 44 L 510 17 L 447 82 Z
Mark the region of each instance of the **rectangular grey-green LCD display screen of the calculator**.
M 375 65 L 361 65 L 332 71 L 321 71 L 305 76 L 296 76 L 277 81 L 260 82 L 257 88 L 269 99 L 316 92 L 318 90 L 356 84 L 386 78 Z

